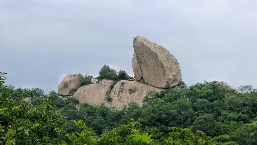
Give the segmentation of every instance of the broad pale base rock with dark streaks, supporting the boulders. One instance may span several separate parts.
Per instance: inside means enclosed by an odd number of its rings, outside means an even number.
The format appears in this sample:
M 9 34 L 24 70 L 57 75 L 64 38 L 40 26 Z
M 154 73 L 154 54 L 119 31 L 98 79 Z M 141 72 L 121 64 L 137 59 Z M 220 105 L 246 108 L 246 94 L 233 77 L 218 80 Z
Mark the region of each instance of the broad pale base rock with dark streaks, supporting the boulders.
M 81 86 L 73 97 L 78 99 L 79 103 L 88 103 L 90 105 L 101 105 L 103 103 L 105 106 L 121 109 L 123 105 L 131 101 L 141 106 L 147 91 L 160 92 L 165 90 L 149 84 L 142 84 L 139 81 L 123 80 L 118 81 L 116 84 L 114 82 L 113 80 L 102 79 L 95 84 Z M 107 100 L 109 96 L 112 102 Z

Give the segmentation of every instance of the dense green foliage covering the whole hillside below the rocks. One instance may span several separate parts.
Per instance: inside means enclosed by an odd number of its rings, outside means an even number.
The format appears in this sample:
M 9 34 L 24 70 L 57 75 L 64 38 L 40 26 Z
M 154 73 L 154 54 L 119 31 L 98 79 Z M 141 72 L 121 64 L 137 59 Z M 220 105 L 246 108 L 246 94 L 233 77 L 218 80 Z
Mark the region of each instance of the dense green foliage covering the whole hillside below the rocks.
M 131 102 L 121 110 L 79 104 L 54 91 L 44 97 L 29 90 L 11 95 L 16 90 L 8 88 L 1 83 L 2 144 L 257 144 L 257 92 L 251 86 L 181 82 L 148 92 L 141 107 Z M 26 96 L 32 107 L 21 100 Z

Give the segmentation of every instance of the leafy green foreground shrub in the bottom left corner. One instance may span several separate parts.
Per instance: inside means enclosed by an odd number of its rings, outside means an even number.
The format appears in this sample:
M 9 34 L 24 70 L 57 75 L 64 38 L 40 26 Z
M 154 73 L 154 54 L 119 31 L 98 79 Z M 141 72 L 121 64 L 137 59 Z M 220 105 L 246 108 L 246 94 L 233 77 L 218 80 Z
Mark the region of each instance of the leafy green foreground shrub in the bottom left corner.
M 62 131 L 64 119 L 53 111 L 54 102 L 44 98 L 42 105 L 32 108 L 22 100 L 27 96 L 20 91 L 18 99 L 6 94 L 5 77 L 0 72 L 0 144 L 61 144 L 56 137 Z

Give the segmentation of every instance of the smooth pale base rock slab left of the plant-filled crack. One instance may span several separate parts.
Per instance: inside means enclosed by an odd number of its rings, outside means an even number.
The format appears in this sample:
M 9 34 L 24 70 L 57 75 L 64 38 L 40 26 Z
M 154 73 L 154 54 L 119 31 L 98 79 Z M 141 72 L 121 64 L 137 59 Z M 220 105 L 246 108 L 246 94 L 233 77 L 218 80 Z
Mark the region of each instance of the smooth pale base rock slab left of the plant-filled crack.
M 110 102 L 106 100 L 106 97 L 108 97 L 113 83 L 113 80 L 102 79 L 95 84 L 81 86 L 73 97 L 78 99 L 79 103 L 88 103 L 90 105 L 104 103 L 106 106 L 110 106 Z

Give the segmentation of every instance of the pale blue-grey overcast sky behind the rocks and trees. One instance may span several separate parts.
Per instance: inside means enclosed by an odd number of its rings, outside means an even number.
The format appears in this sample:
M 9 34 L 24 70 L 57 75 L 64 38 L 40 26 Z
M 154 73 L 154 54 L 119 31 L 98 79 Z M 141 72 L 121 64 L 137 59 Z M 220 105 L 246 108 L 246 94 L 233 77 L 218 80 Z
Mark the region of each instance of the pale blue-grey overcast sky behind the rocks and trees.
M 71 73 L 132 70 L 133 39 L 162 45 L 182 81 L 257 88 L 257 1 L 1 0 L 0 71 L 7 85 L 57 91 Z

